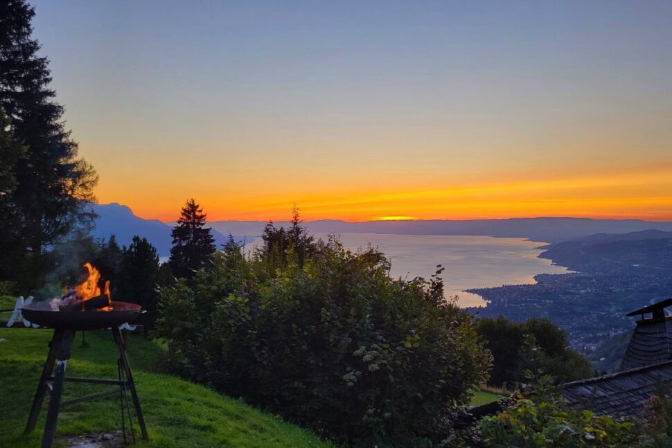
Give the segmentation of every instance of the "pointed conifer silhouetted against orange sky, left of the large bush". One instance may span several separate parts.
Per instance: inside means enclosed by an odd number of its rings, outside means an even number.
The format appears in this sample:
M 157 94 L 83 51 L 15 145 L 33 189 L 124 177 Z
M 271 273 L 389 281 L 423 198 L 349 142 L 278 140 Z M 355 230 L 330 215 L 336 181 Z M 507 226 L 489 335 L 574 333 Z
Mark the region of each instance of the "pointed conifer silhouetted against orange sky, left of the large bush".
M 191 278 L 195 271 L 212 260 L 215 239 L 211 229 L 204 228 L 207 215 L 189 199 L 173 228 L 173 247 L 170 249 L 170 269 L 177 278 Z

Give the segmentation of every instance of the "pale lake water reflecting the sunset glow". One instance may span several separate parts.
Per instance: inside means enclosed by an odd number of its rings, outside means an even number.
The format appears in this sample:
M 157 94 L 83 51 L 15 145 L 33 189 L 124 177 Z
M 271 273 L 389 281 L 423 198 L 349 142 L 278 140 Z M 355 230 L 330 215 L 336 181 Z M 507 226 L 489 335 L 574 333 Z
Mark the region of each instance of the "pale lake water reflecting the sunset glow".
M 315 233 L 326 240 L 328 233 Z M 392 262 L 391 275 L 430 278 L 443 265 L 446 296 L 459 296 L 461 307 L 485 306 L 486 301 L 465 289 L 536 283 L 537 274 L 565 274 L 565 267 L 538 258 L 545 243 L 520 238 L 462 235 L 388 235 L 341 233 L 348 249 L 371 243 Z M 260 244 L 256 238 L 251 247 Z

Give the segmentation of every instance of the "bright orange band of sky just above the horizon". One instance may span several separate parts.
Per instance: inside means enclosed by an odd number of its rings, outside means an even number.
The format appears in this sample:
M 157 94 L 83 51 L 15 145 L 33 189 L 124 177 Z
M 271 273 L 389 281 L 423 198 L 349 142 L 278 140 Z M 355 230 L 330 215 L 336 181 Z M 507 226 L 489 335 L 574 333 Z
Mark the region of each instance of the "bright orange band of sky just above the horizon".
M 494 219 L 588 217 L 672 220 L 672 169 L 668 165 L 606 172 L 595 176 L 462 183 L 443 188 L 365 188 L 331 191 L 240 191 L 193 196 L 210 221 L 284 221 L 292 204 L 306 221 L 342 219 Z M 123 202 L 145 219 L 172 222 L 186 193 L 163 200 L 134 196 Z M 152 197 L 152 199 L 154 199 Z M 116 201 L 119 201 L 116 199 Z M 120 201 L 121 202 L 121 201 Z

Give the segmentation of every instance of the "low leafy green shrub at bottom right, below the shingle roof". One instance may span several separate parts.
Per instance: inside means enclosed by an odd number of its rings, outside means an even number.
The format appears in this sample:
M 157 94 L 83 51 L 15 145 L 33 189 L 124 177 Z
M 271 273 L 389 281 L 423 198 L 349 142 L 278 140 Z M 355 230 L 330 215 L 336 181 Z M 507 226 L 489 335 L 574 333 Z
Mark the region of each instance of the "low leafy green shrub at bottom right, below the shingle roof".
M 633 424 L 607 415 L 569 409 L 551 379 L 541 377 L 504 412 L 479 423 L 487 447 L 629 447 L 637 443 Z

